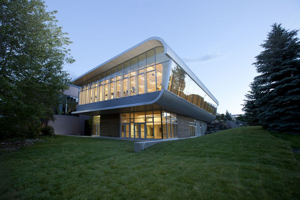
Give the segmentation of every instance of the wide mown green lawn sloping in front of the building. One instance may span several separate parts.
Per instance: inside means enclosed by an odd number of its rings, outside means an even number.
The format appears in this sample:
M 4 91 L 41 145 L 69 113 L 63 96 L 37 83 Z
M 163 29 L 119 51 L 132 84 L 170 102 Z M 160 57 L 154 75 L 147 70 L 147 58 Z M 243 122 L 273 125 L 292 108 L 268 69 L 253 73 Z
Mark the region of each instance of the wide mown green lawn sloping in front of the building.
M 0 156 L 0 199 L 299 199 L 292 143 L 261 127 L 167 141 L 55 136 Z

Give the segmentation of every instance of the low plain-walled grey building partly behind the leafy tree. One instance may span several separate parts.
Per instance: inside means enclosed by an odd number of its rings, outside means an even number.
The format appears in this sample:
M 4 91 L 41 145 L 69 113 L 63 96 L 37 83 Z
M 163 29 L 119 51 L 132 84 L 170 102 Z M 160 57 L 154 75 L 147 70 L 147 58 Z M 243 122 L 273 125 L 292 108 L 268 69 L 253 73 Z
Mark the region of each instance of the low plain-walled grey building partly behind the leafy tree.
M 90 135 L 89 125 L 86 124 L 90 116 L 72 114 L 78 105 L 79 86 L 69 86 L 70 88 L 64 91 L 64 103 L 54 109 L 54 122 L 49 121 L 48 125 L 52 126 L 54 133 L 58 135 Z

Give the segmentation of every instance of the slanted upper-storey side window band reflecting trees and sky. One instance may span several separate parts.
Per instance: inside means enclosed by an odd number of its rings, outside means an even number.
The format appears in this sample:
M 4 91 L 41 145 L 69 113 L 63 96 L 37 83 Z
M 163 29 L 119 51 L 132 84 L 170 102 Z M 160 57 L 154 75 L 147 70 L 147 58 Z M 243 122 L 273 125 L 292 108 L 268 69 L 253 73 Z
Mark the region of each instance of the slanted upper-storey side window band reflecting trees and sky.
M 172 63 L 168 84 L 168 90 L 170 92 L 216 115 L 217 103 L 174 62 Z

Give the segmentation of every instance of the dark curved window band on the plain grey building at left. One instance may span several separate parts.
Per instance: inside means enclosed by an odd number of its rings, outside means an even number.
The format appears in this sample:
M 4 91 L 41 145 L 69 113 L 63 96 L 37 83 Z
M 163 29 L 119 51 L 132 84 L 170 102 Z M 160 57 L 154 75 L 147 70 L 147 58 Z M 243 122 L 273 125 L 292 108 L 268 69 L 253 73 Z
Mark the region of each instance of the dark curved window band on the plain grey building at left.
M 76 108 L 78 105 L 78 97 L 63 95 L 62 98 L 63 98 L 63 103 L 58 104 L 54 108 L 54 114 L 55 115 L 72 115 L 72 116 L 79 117 L 78 114 L 72 114 L 72 112 L 76 111 Z

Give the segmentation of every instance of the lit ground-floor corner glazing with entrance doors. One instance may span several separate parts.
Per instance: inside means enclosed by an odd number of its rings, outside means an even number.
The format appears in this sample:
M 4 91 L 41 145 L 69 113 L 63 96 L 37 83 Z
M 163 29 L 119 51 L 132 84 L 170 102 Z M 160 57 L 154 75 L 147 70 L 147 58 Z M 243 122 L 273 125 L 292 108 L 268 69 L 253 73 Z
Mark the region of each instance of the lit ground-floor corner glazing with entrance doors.
M 177 114 L 146 111 L 120 114 L 121 138 L 178 138 Z

